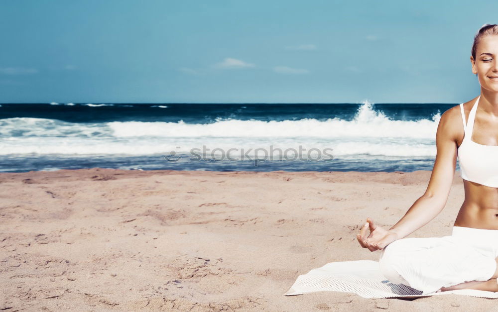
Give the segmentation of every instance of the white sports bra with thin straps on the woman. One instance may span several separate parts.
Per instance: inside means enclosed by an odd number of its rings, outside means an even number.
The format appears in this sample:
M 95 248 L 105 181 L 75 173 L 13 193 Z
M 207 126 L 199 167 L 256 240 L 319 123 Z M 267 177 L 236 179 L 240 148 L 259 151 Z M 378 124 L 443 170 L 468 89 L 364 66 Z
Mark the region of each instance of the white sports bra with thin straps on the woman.
M 469 121 L 465 124 L 464 104 L 460 104 L 464 123 L 464 139 L 457 149 L 462 179 L 481 185 L 498 188 L 498 145 L 483 145 L 471 140 L 474 130 L 477 105 L 472 106 Z

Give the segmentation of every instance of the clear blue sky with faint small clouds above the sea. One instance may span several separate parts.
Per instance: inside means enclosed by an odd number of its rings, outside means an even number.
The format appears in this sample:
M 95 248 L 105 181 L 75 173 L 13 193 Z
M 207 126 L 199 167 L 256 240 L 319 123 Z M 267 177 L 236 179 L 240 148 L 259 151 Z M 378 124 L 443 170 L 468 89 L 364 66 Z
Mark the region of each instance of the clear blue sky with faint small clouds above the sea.
M 463 103 L 498 1 L 0 0 L 0 103 Z

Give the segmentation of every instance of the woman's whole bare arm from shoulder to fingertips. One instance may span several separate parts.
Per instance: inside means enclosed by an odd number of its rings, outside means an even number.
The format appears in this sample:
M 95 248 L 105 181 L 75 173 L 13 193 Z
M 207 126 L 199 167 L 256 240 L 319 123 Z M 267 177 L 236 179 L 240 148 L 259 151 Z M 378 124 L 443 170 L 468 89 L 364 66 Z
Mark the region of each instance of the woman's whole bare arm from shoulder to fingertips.
M 443 113 L 436 132 L 436 160 L 424 195 L 417 199 L 405 215 L 389 230 L 376 226 L 371 218 L 367 218 L 367 223 L 357 234 L 357 239 L 362 247 L 369 248 L 370 251 L 383 249 L 392 241 L 408 236 L 429 223 L 443 210 L 455 174 L 456 137 L 459 133 L 461 135 L 462 129 L 462 118 L 458 106 Z M 371 233 L 367 237 L 369 229 Z

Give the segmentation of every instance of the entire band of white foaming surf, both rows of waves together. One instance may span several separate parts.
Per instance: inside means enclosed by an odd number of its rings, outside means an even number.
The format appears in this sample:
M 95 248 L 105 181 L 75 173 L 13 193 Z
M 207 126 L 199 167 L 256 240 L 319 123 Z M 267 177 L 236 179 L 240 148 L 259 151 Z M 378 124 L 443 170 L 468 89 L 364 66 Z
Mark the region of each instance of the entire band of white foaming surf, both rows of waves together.
M 331 148 L 335 158 L 434 157 L 440 114 L 416 121 L 391 120 L 364 104 L 353 120 L 261 121 L 218 119 L 213 123 L 115 121 L 72 123 L 57 119 L 0 119 L 0 155 L 151 155 L 192 149 L 241 150 Z M 215 153 L 216 154 L 216 153 Z M 247 155 L 257 156 L 254 151 Z M 274 153 L 275 155 L 275 153 Z M 277 154 L 278 155 L 278 152 Z

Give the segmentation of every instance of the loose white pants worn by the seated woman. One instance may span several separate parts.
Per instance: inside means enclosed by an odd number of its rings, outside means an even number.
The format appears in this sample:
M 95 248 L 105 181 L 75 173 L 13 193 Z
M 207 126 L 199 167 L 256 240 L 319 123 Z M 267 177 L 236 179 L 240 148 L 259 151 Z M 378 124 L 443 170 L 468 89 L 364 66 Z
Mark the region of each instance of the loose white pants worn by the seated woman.
M 453 226 L 451 236 L 402 238 L 380 252 L 380 271 L 393 284 L 429 294 L 441 287 L 487 281 L 497 269 L 498 230 Z

